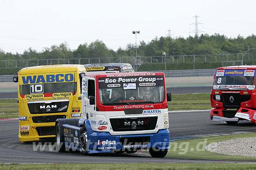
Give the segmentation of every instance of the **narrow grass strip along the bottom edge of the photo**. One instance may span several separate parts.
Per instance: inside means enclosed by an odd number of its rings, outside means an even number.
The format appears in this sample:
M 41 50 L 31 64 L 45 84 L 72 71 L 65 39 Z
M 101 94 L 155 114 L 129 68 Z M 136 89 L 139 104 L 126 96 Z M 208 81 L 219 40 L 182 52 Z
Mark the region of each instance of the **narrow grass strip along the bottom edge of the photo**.
M 255 164 L 0 164 L 0 170 L 253 170 Z

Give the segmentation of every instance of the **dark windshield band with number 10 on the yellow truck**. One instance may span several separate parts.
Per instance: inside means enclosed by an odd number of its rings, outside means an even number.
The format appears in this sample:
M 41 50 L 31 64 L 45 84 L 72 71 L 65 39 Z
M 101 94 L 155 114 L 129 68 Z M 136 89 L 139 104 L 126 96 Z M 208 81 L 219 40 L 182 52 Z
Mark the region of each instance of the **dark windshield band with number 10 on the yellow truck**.
M 40 88 L 39 93 L 33 93 L 33 84 L 20 85 L 20 95 L 24 94 L 46 94 L 46 93 L 67 93 L 76 92 L 76 82 L 54 82 L 36 84 Z M 34 88 L 35 89 L 35 88 Z

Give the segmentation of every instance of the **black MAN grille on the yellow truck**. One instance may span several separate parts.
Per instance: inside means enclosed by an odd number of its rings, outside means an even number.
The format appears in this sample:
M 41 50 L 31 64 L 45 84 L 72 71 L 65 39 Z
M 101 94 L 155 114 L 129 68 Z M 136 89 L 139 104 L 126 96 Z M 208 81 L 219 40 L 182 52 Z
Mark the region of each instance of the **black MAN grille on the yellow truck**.
M 68 104 L 69 101 L 53 101 L 50 103 L 27 103 L 27 106 L 31 114 L 63 113 L 67 112 Z

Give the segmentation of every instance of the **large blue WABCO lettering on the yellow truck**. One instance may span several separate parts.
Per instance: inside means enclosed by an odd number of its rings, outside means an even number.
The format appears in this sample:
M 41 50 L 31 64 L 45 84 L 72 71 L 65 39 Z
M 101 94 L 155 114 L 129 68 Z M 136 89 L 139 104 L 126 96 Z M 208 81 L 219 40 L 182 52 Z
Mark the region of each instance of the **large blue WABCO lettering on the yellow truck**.
M 73 82 L 73 74 L 22 76 L 23 84 L 45 83 L 45 82 Z

